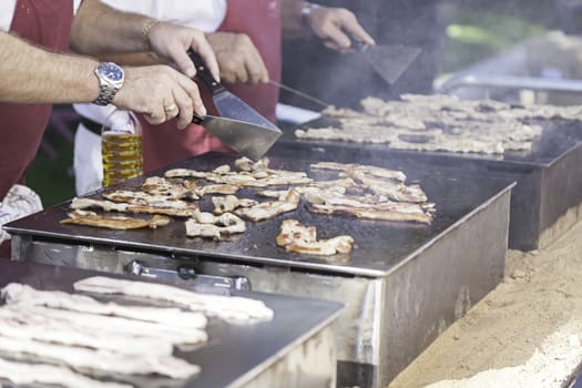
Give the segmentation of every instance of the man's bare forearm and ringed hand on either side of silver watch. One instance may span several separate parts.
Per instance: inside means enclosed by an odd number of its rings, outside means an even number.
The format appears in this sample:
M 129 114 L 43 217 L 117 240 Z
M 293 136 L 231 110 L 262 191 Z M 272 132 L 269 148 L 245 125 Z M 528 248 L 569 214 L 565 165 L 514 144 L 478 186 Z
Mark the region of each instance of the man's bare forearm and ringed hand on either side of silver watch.
M 91 58 L 48 52 L 6 32 L 0 32 L 0 48 L 1 102 L 92 102 L 99 95 L 99 62 Z M 178 127 L 190 124 L 193 111 L 206 114 L 196 84 L 186 75 L 167 65 L 124 70 L 125 82 L 113 105 L 144 113 L 153 124 L 178 114 Z M 164 106 L 172 103 L 178 110 L 169 116 Z

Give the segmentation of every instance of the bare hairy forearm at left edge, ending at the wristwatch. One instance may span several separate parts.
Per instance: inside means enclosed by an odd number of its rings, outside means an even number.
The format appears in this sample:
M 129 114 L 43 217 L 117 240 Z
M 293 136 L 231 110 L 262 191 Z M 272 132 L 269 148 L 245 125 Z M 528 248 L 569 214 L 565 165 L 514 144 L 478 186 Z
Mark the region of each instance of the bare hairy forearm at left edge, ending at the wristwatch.
M 90 58 L 55 54 L 0 32 L 0 101 L 90 102 L 99 94 Z

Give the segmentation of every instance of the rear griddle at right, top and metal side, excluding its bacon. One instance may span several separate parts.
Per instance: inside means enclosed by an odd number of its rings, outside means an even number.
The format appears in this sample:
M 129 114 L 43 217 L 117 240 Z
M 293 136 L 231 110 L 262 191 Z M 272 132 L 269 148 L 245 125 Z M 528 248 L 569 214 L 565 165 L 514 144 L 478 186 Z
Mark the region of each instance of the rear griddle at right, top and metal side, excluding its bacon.
M 582 122 L 530 120 L 542 126 L 531 152 L 509 151 L 500 155 L 452 152 L 391 150 L 388 144 L 298 140 L 296 127 L 284 130 L 269 154 L 283 157 L 335 160 L 344 163 L 419 163 L 425 171 L 450 174 L 452 171 L 515 181 L 511 193 L 509 246 L 523 251 L 550 244 L 542 232 L 552 227 L 569 208 L 582 201 Z M 299 127 L 333 124 L 318 119 Z M 357 127 L 354 129 L 357 131 Z M 555 238 L 558 236 L 554 235 Z

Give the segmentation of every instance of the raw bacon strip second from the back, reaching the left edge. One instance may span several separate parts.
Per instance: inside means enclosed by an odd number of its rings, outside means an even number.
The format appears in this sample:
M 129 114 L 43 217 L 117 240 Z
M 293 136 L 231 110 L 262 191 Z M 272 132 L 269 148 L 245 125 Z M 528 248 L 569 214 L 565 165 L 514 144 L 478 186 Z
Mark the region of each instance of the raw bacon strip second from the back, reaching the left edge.
M 172 307 L 125 306 L 115 303 L 102 303 L 86 295 L 63 292 L 38 290 L 20 283 L 10 283 L 1 290 L 1 297 L 8 305 L 44 306 L 78 313 L 116 316 L 135 320 L 163 324 L 169 327 L 201 329 L 207 319 L 203 314 L 183 312 Z

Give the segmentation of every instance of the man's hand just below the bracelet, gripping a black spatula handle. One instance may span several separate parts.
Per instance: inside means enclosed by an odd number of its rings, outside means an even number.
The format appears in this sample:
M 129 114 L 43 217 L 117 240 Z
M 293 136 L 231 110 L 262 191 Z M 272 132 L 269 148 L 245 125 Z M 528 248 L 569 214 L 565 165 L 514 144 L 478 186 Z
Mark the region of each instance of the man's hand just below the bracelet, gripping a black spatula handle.
M 219 80 L 218 63 L 204 32 L 173 23 L 160 22 L 153 25 L 147 38 L 152 50 L 172 62 L 190 78 L 194 78 L 196 69 L 186 52 L 192 49 L 197 52 L 208 68 L 214 79 Z

